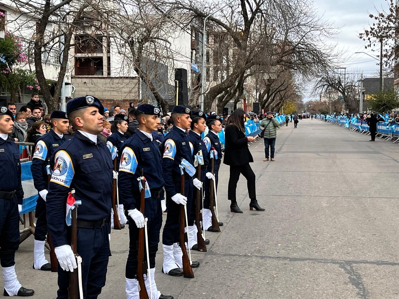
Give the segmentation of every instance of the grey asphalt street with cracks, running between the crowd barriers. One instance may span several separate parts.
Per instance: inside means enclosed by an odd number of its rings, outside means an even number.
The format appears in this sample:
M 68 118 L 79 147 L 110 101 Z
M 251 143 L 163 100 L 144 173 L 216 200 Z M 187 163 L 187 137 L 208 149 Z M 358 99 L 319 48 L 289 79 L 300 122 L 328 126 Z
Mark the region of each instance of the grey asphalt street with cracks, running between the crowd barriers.
M 229 168 L 222 165 L 221 233 L 206 233 L 207 253 L 192 252 L 201 262 L 194 279 L 161 273 L 160 244 L 158 289 L 179 299 L 399 298 L 399 146 L 368 140 L 320 120 L 300 120 L 296 129 L 289 123 L 277 131 L 275 162 L 263 162 L 262 140 L 252 144 L 265 212 L 249 210 L 243 177 L 237 202 L 244 213 L 230 212 Z M 128 228 L 112 231 L 111 252 L 99 298 L 124 299 Z M 34 297 L 55 298 L 56 273 L 32 264 L 33 236 L 16 254 L 18 278 Z

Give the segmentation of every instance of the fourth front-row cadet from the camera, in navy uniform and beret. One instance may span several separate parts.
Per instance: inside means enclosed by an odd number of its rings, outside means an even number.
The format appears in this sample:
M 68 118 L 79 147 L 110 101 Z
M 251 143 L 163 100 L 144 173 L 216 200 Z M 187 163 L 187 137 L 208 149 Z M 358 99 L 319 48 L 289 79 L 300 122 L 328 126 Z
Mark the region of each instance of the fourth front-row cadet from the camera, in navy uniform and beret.
M 192 122 L 191 130 L 188 133 L 188 142 L 190 147 L 193 148 L 194 163 L 196 155 L 202 156 L 203 165 L 201 165 L 201 183 L 205 181 L 205 170 L 208 165 L 207 148 L 205 143 L 202 141 L 201 134 L 205 132 L 206 129 L 206 115 L 202 111 L 192 112 Z M 194 177 L 198 177 L 198 169 Z M 196 189 L 193 189 L 192 204 L 190 210 L 190 216 L 188 217 L 188 238 L 190 238 L 190 246 L 192 250 L 198 250 L 198 240 L 197 240 L 197 226 L 194 225 L 194 220 L 196 218 Z M 202 208 L 202 198 L 200 199 L 200 209 Z M 205 244 L 209 244 L 209 240 L 205 240 Z M 186 246 L 187 247 L 187 246 Z

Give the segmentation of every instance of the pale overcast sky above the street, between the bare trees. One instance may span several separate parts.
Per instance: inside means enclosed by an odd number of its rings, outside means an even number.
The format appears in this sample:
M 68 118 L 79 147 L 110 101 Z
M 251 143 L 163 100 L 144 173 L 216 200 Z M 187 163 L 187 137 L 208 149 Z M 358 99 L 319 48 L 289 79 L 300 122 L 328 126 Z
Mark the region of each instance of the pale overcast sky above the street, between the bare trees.
M 378 61 L 373 60 L 365 54 L 355 54 L 355 52 L 365 51 L 370 55 L 379 55 L 371 49 L 365 49 L 365 42 L 359 39 L 358 35 L 368 28 L 369 14 L 374 14 L 376 8 L 387 7 L 385 0 L 314 0 L 314 6 L 318 9 L 319 15 L 323 15 L 324 20 L 334 22 L 336 27 L 341 28 L 336 40 L 338 49 L 345 51 L 345 62 L 341 67 L 347 67 L 347 73 L 362 71 L 365 78 L 376 77 L 379 73 Z M 376 47 L 375 49 L 378 49 Z M 344 70 L 342 70 L 344 71 Z M 314 99 L 310 95 L 310 87 L 304 93 L 304 101 Z

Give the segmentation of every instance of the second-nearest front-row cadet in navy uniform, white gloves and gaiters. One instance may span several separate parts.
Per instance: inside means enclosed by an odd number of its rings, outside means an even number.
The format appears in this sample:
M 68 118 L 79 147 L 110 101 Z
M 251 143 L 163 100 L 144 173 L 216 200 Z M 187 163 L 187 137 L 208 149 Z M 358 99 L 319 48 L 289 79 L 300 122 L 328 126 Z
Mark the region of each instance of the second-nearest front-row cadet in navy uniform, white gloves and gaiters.
M 135 134 L 124 144 L 119 165 L 119 195 L 123 198 L 130 220 L 129 225 L 129 254 L 126 262 L 126 299 L 137 299 L 137 244 L 138 228 L 144 227 L 144 216 L 148 218 L 148 252 L 149 274 L 151 275 L 151 289 L 154 299 L 173 299 L 172 296 L 161 295 L 155 283 L 155 256 L 158 251 L 159 234 L 162 226 L 162 209 L 160 191 L 164 186 L 161 168 L 161 153 L 158 144 L 152 137 L 160 120 L 160 110 L 149 104 L 140 104 L 136 108 L 135 116 L 138 129 Z M 141 170 L 150 189 L 150 197 L 146 197 L 144 216 L 140 212 L 140 188 L 138 179 Z M 144 186 L 143 186 L 144 187 Z M 150 297 L 150 280 L 145 280 L 145 285 Z

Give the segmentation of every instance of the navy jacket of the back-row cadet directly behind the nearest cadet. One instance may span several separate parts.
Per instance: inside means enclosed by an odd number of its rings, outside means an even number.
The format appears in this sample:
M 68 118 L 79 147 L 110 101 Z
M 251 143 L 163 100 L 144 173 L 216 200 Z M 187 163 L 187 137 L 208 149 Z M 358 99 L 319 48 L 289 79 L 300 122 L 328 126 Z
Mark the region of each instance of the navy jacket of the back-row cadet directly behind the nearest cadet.
M 36 148 L 32 157 L 32 165 L 30 170 L 32 172 L 33 183 L 37 191 L 47 190 L 48 176 L 46 166 L 49 164 L 50 157 L 53 153 L 66 141 L 64 137 L 59 136 L 50 130 L 47 134 L 41 136 L 36 143 Z M 40 197 L 36 204 L 36 217 L 45 217 L 45 201 Z

